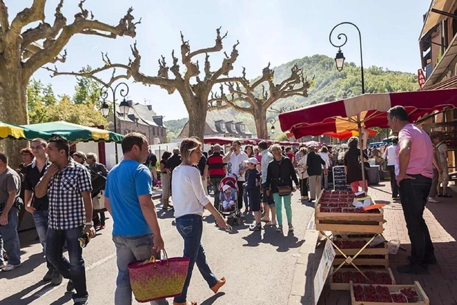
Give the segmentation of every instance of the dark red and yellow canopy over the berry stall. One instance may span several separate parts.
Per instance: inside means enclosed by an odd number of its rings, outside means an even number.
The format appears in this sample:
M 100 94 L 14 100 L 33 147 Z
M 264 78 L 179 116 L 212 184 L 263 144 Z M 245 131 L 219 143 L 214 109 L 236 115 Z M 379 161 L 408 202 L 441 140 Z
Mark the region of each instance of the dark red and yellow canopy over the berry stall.
M 279 114 L 282 131 L 296 138 L 361 127 L 387 128 L 387 110 L 403 106 L 414 122 L 427 114 L 457 107 L 457 89 L 368 93 L 344 100 L 309 105 Z

